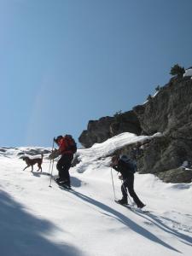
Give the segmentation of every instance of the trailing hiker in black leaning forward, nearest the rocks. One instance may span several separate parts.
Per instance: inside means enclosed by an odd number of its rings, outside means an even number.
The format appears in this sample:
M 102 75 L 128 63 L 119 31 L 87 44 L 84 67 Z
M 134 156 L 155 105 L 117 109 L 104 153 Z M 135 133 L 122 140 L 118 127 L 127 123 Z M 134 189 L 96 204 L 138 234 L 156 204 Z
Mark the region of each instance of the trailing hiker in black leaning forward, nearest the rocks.
M 133 201 L 137 204 L 137 207 L 138 208 L 145 207 L 145 205 L 138 198 L 138 196 L 134 190 L 134 172 L 129 170 L 125 161 L 121 160 L 119 156 L 114 155 L 112 157 L 111 166 L 113 167 L 113 169 L 115 171 L 120 172 L 122 179 L 123 179 L 123 183 L 121 185 L 121 192 L 122 192 L 123 197 L 118 202 L 120 204 L 128 203 L 128 201 L 127 201 L 127 189 L 128 189 L 129 194 L 133 198 Z

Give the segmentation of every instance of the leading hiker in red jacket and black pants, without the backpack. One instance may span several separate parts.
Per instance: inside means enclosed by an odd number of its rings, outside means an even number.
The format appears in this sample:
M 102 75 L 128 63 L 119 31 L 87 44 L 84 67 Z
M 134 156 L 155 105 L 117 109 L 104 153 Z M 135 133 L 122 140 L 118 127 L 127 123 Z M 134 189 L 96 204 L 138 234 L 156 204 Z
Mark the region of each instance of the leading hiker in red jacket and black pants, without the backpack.
M 55 143 L 58 145 L 59 153 L 61 154 L 60 160 L 58 160 L 56 168 L 59 172 L 59 177 L 56 179 L 57 183 L 71 187 L 69 169 L 73 161 L 73 151 L 70 149 L 67 143 L 67 137 L 58 136 L 55 139 Z

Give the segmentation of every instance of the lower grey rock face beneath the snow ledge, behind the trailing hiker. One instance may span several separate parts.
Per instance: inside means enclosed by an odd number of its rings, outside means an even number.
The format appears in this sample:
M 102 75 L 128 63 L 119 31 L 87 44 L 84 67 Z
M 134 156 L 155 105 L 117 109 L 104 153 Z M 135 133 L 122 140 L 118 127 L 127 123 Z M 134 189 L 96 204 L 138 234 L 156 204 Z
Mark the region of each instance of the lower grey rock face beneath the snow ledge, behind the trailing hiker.
M 139 173 L 152 173 L 166 183 L 190 183 L 191 172 L 181 167 L 185 160 L 192 160 L 192 143 L 167 136 L 154 137 L 144 143 L 127 145 L 115 154 L 128 154 L 137 162 Z M 176 176 L 174 170 L 179 169 Z M 170 172 L 172 170 L 172 172 Z

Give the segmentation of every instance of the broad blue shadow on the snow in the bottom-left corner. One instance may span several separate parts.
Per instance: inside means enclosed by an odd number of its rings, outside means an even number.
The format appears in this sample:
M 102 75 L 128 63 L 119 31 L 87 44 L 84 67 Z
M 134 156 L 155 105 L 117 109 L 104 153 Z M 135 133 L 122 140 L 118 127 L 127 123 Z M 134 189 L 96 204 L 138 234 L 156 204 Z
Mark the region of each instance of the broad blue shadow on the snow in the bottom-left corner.
M 44 235 L 58 230 L 49 221 L 35 218 L 24 207 L 0 190 L 1 255 L 13 256 L 79 256 L 82 253 L 69 244 L 49 241 Z M 65 236 L 65 234 L 63 234 Z

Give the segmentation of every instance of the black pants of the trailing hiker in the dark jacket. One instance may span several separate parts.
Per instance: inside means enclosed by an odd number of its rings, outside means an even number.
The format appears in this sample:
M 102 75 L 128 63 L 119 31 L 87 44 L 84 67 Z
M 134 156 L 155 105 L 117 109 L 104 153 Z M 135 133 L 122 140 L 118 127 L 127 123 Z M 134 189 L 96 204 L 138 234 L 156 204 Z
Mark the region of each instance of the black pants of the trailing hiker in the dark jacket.
M 123 198 L 127 199 L 127 189 L 133 201 L 137 204 L 137 207 L 143 206 L 143 202 L 138 198 L 135 190 L 134 190 L 134 174 L 131 173 L 129 177 L 125 178 L 124 182 L 121 185 L 121 191 L 123 194 Z

